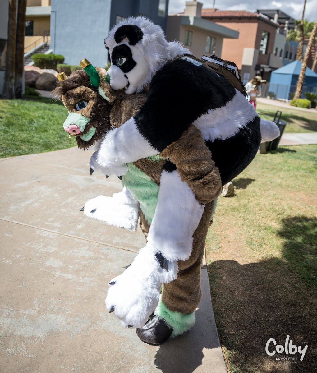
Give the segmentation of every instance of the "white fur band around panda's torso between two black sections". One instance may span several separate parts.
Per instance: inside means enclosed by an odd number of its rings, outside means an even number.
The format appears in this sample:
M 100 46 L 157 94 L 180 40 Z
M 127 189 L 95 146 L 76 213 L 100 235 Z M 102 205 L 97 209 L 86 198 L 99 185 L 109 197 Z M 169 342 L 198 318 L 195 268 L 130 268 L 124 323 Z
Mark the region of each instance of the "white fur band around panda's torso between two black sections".
M 202 132 L 205 141 L 226 140 L 237 134 L 257 112 L 238 90 L 231 101 L 218 109 L 209 110 L 193 123 Z

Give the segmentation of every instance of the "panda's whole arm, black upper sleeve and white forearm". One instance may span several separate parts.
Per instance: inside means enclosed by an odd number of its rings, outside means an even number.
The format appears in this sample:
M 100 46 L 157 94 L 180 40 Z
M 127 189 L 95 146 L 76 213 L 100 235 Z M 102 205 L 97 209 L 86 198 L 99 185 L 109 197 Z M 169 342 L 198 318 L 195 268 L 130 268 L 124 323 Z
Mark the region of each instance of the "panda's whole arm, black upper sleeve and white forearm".
M 105 137 L 98 163 L 112 167 L 158 154 L 199 116 L 227 100 L 226 87 L 203 66 L 181 59 L 167 63 L 152 79 L 140 110 Z

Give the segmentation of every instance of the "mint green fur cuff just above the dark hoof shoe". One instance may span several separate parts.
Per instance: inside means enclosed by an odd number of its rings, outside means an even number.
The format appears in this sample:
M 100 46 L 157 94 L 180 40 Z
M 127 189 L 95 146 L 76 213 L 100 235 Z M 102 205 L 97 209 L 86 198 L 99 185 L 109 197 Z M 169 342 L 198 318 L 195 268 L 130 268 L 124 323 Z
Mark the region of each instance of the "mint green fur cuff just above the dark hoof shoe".
M 171 311 L 166 307 L 161 299 L 154 311 L 154 315 L 156 315 L 160 320 L 164 320 L 164 322 L 173 329 L 171 338 L 175 338 L 188 332 L 196 321 L 195 312 L 184 315 L 180 312 Z

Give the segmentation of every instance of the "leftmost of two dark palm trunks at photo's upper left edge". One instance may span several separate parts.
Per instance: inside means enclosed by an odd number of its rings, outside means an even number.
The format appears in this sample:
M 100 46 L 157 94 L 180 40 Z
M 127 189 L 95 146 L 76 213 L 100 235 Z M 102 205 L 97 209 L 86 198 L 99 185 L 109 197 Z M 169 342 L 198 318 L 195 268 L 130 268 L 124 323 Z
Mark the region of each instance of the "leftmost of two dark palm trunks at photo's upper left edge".
M 15 97 L 15 93 L 14 93 L 15 17 L 16 17 L 16 0 L 9 0 L 6 70 L 4 72 L 4 82 L 3 82 L 3 89 L 2 89 L 2 98 L 9 98 L 9 99 L 12 99 Z

